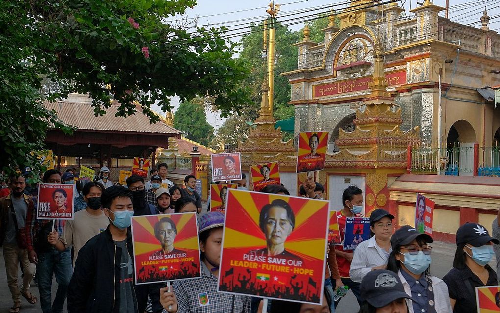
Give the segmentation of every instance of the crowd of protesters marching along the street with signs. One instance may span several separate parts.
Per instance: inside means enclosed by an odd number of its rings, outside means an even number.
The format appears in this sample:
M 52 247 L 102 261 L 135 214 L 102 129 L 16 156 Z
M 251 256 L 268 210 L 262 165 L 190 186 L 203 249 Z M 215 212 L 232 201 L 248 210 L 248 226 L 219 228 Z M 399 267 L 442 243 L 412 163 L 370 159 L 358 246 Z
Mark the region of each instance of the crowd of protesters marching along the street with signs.
M 9 312 L 21 310 L 21 297 L 31 305 L 39 302 L 43 313 L 59 313 L 67 300 L 69 313 L 80 312 L 269 312 L 333 313 L 339 301 L 335 290 L 348 286 L 359 312 L 477 312 L 475 287 L 497 285 L 498 276 L 488 262 L 500 259 L 500 220 L 493 221 L 493 237 L 483 225 L 465 223 L 456 230 L 452 268 L 442 279 L 430 275 L 433 238 L 414 227 L 395 229 L 394 216 L 384 209 L 369 214 L 371 237 L 354 251 L 329 246 L 321 304 L 285 300 L 263 301 L 258 297 L 217 292 L 224 215 L 202 211 L 196 178 L 187 175 L 183 186 L 167 179 L 167 165 L 150 171 L 150 180 L 126 179 L 126 186 L 109 180 L 102 167 L 91 180 L 74 179 L 75 167 L 66 172 L 48 170 L 43 184 L 75 184 L 74 218 L 36 218 L 36 185 L 24 168 L 1 183 L 0 244 L 3 247 L 7 284 L 12 297 Z M 246 177 L 228 183 L 246 189 Z M 288 195 L 282 185 L 267 185 L 264 193 Z M 300 186 L 299 196 L 322 199 L 324 188 L 311 177 Z M 337 211 L 340 236 L 346 218 L 363 217 L 363 194 L 347 187 Z M 208 210 L 209 211 L 209 210 Z M 130 224 L 132 216 L 196 212 L 201 254 L 201 277 L 162 283 L 135 284 Z M 19 286 L 18 270 L 22 271 Z M 52 294 L 55 277 L 57 289 Z M 34 280 L 34 281 L 33 281 Z M 37 284 L 39 299 L 30 292 Z M 200 306 L 206 294 L 209 306 Z M 500 310 L 500 308 L 499 308 Z

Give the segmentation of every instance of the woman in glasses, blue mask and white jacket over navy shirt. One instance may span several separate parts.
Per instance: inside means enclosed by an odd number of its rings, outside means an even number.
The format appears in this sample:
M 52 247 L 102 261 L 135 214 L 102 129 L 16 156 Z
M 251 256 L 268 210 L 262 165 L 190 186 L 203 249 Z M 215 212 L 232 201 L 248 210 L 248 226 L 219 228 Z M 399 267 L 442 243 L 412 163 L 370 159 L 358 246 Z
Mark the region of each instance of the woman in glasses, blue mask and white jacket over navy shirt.
M 448 288 L 439 278 L 429 275 L 432 261 L 432 237 L 405 225 L 394 231 L 390 238 L 392 252 L 387 269 L 397 273 L 404 291 L 413 298 L 409 313 L 451 312 Z

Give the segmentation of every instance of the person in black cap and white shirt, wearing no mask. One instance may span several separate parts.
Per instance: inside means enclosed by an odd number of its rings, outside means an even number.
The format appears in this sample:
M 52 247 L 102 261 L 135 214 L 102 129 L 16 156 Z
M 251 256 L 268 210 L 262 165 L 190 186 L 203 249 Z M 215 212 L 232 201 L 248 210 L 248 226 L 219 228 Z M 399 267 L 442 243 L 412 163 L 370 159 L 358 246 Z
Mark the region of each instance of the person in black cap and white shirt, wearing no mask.
M 364 275 L 374 269 L 384 269 L 390 252 L 390 236 L 392 235 L 392 220 L 394 216 L 384 209 L 371 212 L 370 230 L 373 236 L 359 243 L 354 250 L 349 276 L 353 281 L 360 282 Z

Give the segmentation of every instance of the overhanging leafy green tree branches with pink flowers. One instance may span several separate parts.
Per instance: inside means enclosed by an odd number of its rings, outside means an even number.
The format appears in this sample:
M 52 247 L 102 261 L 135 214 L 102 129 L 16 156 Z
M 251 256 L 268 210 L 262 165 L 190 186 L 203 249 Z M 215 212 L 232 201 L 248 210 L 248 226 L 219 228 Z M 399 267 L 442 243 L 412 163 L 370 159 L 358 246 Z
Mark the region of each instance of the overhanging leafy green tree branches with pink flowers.
M 95 115 L 111 99 L 119 116 L 134 101 L 151 122 L 150 106 L 170 110 L 168 97 L 214 98 L 223 116 L 249 102 L 237 83 L 248 71 L 232 58 L 237 45 L 225 28 L 175 29 L 167 18 L 195 0 L 54 0 L 0 2 L 0 167 L 31 165 L 29 152 L 43 147 L 47 127 L 69 132 L 40 100 L 89 94 Z M 53 88 L 42 88 L 43 81 Z M 106 86 L 110 86 L 108 89 Z

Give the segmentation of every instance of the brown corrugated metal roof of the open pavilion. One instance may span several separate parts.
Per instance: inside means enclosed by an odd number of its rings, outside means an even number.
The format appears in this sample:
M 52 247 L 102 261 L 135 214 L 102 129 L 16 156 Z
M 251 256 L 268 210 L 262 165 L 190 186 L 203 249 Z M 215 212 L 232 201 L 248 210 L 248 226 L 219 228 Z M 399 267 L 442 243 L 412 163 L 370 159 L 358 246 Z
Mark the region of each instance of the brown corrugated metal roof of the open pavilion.
M 49 110 L 55 110 L 57 116 L 66 124 L 78 129 L 94 131 L 131 132 L 131 133 L 156 133 L 164 135 L 179 136 L 180 131 L 159 121 L 149 123 L 149 118 L 142 114 L 140 107 L 137 112 L 126 118 L 115 116 L 118 105 L 112 105 L 106 109 L 104 116 L 94 116 L 93 108 L 86 103 L 75 102 L 48 102 L 43 106 Z

